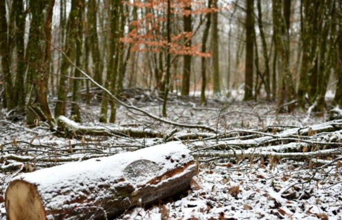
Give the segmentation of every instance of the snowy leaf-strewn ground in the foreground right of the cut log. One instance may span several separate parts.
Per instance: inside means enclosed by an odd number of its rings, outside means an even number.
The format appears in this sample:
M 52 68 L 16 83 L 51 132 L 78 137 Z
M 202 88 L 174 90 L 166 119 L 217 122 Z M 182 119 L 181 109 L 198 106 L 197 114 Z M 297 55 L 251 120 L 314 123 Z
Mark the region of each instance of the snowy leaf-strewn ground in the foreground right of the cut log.
M 266 161 L 213 162 L 202 166 L 183 198 L 147 210 L 137 207 L 121 219 L 341 220 L 341 169 L 325 169 L 336 172 L 327 178 L 302 162 L 284 161 L 273 168 Z

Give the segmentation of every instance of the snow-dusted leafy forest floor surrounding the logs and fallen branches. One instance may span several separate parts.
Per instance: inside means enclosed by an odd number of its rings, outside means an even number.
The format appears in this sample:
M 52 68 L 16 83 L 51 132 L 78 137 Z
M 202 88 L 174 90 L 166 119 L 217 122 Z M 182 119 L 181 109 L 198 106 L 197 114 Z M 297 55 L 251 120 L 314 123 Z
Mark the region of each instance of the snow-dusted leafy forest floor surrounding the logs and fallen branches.
M 276 113 L 273 102 L 241 102 L 239 94 L 233 98 L 216 97 L 208 100 L 206 107 L 199 105 L 198 98 L 180 98 L 171 95 L 168 103 L 168 120 L 206 124 L 216 130 L 253 129 L 267 127 L 305 127 L 325 122 L 326 113 L 316 114 L 296 110 Z M 54 100 L 51 100 L 53 103 Z M 161 113 L 161 100 L 148 92 L 129 95 L 135 106 L 155 115 Z M 81 103 L 83 124 L 98 123 L 99 101 Z M 17 154 L 22 157 L 49 155 L 48 162 L 34 159 L 18 169 L 0 169 L 0 220 L 4 220 L 4 192 L 9 180 L 20 172 L 28 172 L 43 167 L 55 166 L 53 156 L 63 154 L 70 158 L 82 158 L 90 154 L 99 156 L 134 151 L 151 146 L 160 138 L 130 137 L 90 137 L 65 138 L 51 132 L 44 123 L 35 128 L 27 128 L 23 119 L 0 112 L 1 154 Z M 153 121 L 124 107 L 117 109 L 117 125 L 124 127 L 149 128 L 163 133 L 174 127 Z M 173 136 L 194 132 L 192 129 L 178 128 Z M 198 131 L 196 131 L 198 132 Z M 184 141 L 189 144 L 189 141 Z M 73 149 L 70 149 L 72 146 Z M 0 161 L 2 165 L 13 161 Z M 1 165 L 0 164 L 0 165 Z M 329 219 L 342 220 L 342 168 L 327 166 L 320 172 L 308 161 L 283 159 L 275 165 L 268 159 L 216 159 L 201 163 L 199 174 L 192 181 L 192 189 L 183 195 L 160 201 L 147 207 L 127 210 L 120 219 Z

